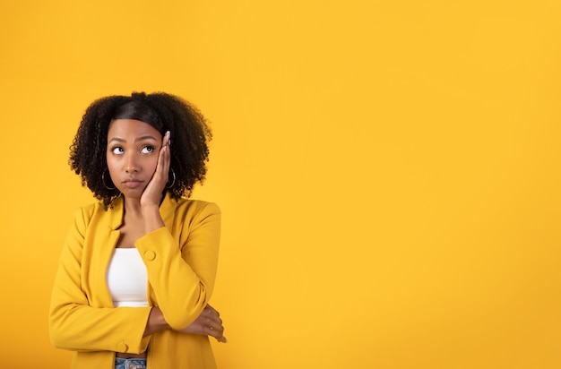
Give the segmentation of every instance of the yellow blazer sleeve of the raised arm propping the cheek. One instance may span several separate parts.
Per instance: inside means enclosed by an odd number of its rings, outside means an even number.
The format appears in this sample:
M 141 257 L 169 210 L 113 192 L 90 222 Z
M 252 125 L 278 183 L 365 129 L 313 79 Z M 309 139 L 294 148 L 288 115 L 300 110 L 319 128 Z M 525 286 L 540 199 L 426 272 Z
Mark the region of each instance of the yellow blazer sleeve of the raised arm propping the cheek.
M 174 329 L 185 328 L 203 312 L 218 266 L 220 209 L 211 202 L 197 202 L 194 208 L 177 214 L 180 234 L 160 227 L 135 243 L 158 306 Z M 175 223 L 172 228 L 179 227 Z

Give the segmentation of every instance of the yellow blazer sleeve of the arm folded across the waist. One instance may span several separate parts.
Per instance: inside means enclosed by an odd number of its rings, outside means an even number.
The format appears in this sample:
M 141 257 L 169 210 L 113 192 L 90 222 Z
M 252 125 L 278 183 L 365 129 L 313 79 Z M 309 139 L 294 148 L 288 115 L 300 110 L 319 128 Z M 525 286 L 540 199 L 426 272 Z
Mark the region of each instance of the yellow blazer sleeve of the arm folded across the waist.
M 60 257 L 49 308 L 49 334 L 56 348 L 74 351 L 141 353 L 150 337 L 142 337 L 151 307 L 91 306 L 82 289 L 84 235 L 88 221 L 77 210 Z

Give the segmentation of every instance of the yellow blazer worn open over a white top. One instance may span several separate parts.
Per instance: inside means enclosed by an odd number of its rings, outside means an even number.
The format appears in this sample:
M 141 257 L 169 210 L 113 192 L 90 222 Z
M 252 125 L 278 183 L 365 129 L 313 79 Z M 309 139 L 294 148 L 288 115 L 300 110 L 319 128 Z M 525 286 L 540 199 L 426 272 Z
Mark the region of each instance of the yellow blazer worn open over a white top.
M 160 214 L 166 227 L 142 236 L 135 246 L 148 271 L 147 307 L 113 305 L 106 272 L 123 222 L 122 197 L 104 210 L 94 203 L 76 211 L 60 257 L 49 309 L 56 348 L 75 351 L 72 368 L 115 366 L 115 352 L 148 348 L 148 368 L 216 368 L 207 336 L 162 330 L 142 338 L 151 306 L 166 322 L 184 328 L 211 298 L 220 243 L 220 209 L 211 202 L 166 195 Z

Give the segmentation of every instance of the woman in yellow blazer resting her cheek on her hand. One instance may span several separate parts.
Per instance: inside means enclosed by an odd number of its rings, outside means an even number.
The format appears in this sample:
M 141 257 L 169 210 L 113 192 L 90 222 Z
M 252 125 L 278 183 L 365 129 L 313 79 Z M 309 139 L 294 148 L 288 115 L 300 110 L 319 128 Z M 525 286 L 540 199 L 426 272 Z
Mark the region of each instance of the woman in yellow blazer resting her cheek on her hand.
M 74 215 L 49 311 L 51 340 L 74 351 L 73 368 L 216 367 L 209 336 L 226 342 L 209 305 L 220 209 L 187 199 L 210 140 L 203 115 L 166 93 L 86 110 L 69 162 L 99 202 Z

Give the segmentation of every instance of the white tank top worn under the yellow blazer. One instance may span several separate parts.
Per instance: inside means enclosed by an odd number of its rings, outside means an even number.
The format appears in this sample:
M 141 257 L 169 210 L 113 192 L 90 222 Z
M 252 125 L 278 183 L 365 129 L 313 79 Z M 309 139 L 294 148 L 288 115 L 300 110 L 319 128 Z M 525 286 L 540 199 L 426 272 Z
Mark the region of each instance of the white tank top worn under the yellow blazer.
M 107 281 L 115 307 L 148 306 L 148 275 L 135 247 L 115 249 L 109 262 Z

